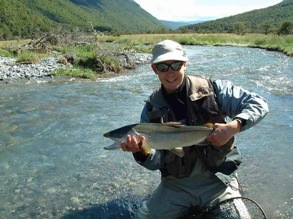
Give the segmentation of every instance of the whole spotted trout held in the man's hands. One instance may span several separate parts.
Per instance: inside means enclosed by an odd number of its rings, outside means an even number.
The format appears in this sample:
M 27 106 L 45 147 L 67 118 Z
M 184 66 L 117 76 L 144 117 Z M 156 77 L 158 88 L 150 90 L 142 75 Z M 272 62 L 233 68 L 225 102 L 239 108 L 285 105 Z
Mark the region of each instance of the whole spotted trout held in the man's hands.
M 158 150 L 171 150 L 180 157 L 184 156 L 182 147 L 192 145 L 208 145 L 206 141 L 214 129 L 213 124 L 203 126 L 185 126 L 180 122 L 167 122 L 163 124 L 139 123 L 117 128 L 104 134 L 115 143 L 104 147 L 105 150 L 116 150 L 121 148 L 121 142 L 127 143 L 126 136 L 134 136 L 137 139 L 140 150 L 150 154 L 151 148 Z M 142 141 L 142 136 L 146 141 Z

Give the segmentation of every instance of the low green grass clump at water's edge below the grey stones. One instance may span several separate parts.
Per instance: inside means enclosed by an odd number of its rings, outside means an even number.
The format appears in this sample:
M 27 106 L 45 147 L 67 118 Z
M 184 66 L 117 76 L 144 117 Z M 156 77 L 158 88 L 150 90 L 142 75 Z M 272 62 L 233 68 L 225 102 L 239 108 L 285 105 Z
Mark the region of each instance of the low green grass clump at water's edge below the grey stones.
M 86 79 L 96 79 L 97 73 L 89 68 L 82 68 L 82 67 L 65 67 L 65 68 L 59 68 L 54 69 L 53 72 L 51 72 L 51 75 L 54 76 L 65 76 L 69 75 L 71 77 L 76 78 L 86 78 Z

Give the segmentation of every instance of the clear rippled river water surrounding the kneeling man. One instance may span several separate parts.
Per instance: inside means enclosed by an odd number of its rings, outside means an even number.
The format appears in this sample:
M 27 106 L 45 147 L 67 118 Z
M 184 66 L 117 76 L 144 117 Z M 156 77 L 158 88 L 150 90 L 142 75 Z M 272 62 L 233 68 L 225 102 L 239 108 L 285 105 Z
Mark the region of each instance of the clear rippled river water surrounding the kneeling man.
M 270 113 L 237 135 L 244 195 L 267 216 L 293 214 L 293 58 L 241 47 L 185 46 L 187 74 L 229 79 Z M 159 183 L 106 131 L 139 121 L 158 87 L 150 66 L 97 81 L 55 77 L 0 85 L 0 218 L 135 218 Z M 97 216 L 98 215 L 98 216 Z

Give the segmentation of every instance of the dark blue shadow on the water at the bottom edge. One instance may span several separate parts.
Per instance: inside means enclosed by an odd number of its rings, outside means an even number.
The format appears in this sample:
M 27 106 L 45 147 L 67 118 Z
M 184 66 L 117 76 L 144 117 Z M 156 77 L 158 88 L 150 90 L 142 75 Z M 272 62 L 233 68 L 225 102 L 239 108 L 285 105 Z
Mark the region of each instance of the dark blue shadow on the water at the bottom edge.
M 82 210 L 70 210 L 60 219 L 134 219 L 141 203 L 147 199 L 148 197 L 114 199 Z

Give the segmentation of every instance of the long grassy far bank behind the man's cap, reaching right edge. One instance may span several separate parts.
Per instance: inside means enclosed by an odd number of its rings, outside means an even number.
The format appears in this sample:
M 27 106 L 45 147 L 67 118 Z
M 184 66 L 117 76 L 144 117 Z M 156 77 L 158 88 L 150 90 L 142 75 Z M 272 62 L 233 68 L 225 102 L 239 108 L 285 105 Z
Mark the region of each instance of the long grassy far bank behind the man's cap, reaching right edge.
M 275 36 L 264 34 L 139 34 L 122 36 L 100 36 L 104 42 L 127 42 L 132 45 L 154 45 L 170 39 L 183 45 L 200 46 L 243 46 L 280 51 L 293 56 L 293 36 Z

